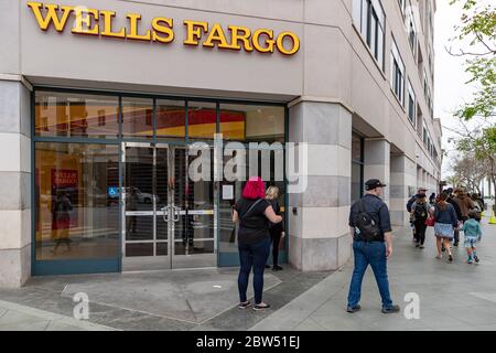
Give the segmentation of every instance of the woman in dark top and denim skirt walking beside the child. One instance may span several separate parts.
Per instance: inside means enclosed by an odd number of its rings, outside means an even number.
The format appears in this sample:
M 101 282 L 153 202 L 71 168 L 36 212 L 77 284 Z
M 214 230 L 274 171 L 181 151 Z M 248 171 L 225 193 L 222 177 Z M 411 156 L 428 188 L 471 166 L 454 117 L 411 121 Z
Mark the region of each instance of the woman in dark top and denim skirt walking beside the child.
M 453 261 L 453 254 L 451 253 L 450 243 L 454 237 L 454 229 L 459 226 L 459 218 L 452 204 L 446 202 L 448 194 L 442 193 L 439 203 L 435 205 L 434 211 L 434 234 L 435 245 L 438 248 L 436 258 L 442 258 L 441 246 L 444 244 L 444 248 L 449 254 L 449 261 Z

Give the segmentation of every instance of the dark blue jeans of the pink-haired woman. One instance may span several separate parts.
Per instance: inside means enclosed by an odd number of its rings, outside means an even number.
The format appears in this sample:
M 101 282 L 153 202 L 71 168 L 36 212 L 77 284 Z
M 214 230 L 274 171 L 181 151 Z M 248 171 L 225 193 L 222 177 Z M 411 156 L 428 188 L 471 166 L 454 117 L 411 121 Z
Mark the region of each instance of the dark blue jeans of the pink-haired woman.
M 246 291 L 251 267 L 254 268 L 255 303 L 261 303 L 263 291 L 263 271 L 270 253 L 270 238 L 256 244 L 239 244 L 239 261 L 241 264 L 238 276 L 239 301 L 246 302 Z

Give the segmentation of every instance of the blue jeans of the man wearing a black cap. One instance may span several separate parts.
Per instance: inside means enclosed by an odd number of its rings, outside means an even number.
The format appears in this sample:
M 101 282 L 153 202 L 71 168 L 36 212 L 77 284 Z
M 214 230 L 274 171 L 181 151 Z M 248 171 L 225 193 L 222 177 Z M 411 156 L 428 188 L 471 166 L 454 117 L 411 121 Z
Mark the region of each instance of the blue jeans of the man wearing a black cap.
M 370 265 L 376 277 L 377 287 L 379 287 L 382 308 L 390 308 L 392 300 L 389 293 L 385 244 L 381 242 L 354 242 L 353 253 L 355 255 L 355 269 L 353 271 L 352 282 L 349 284 L 348 306 L 355 307 L 360 301 L 362 280 L 364 279 L 368 265 Z

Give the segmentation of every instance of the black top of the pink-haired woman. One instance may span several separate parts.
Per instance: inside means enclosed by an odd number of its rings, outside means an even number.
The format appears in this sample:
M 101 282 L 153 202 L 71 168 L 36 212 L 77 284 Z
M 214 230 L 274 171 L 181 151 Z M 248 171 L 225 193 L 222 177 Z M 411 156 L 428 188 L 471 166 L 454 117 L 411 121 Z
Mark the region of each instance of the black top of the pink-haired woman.
M 260 200 L 247 214 L 248 210 Z M 265 199 L 239 199 L 235 210 L 239 216 L 238 244 L 256 244 L 269 237 L 270 221 L 265 215 L 269 201 Z

